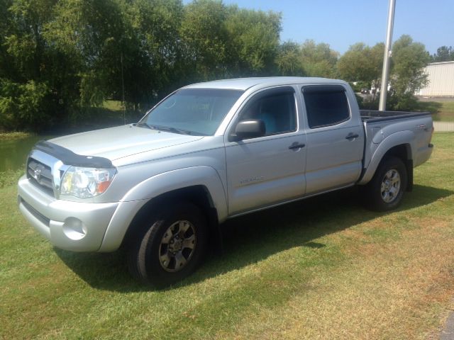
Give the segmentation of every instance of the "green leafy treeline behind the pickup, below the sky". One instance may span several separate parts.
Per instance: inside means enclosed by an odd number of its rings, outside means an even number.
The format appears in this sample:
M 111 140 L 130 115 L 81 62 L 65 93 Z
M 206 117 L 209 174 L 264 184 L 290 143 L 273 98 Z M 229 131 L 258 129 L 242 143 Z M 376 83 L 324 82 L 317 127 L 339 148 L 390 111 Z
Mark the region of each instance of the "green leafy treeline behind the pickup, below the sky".
M 0 0 L 0 129 L 82 120 L 107 98 L 143 112 L 184 84 L 295 75 L 379 86 L 382 44 L 343 56 L 327 44 L 279 40 L 281 15 L 194 0 Z M 423 45 L 394 43 L 392 105 L 425 84 Z M 404 98 L 402 101 L 401 99 Z

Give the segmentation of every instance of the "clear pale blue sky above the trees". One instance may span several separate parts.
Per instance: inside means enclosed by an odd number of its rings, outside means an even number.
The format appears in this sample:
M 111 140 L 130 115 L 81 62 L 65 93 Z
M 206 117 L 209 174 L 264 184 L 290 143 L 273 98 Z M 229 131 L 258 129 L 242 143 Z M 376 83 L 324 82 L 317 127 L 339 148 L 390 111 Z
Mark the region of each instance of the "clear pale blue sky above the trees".
M 184 1 L 187 4 L 190 1 Z M 355 42 L 384 42 L 388 0 L 223 0 L 241 8 L 282 12 L 281 40 L 326 42 L 345 52 Z M 393 41 L 409 34 L 431 54 L 454 47 L 454 0 L 396 0 Z

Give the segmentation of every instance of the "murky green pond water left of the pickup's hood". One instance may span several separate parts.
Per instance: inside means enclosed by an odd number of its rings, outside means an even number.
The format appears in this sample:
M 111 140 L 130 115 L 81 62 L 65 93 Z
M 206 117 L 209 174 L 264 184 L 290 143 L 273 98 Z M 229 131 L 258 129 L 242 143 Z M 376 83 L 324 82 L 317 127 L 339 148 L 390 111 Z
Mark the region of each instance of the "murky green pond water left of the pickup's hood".
M 28 152 L 40 140 L 48 140 L 52 136 L 30 136 L 12 140 L 0 140 L 0 172 L 16 170 L 26 163 Z

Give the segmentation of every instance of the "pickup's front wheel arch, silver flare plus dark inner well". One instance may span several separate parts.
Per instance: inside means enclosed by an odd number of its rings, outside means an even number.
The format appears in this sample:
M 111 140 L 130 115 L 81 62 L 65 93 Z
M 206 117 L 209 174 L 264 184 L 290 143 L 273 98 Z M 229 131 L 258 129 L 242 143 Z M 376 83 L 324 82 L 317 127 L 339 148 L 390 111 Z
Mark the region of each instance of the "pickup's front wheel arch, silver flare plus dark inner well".
M 163 200 L 175 199 L 198 205 L 206 213 L 209 229 L 216 231 L 214 235 L 219 234 L 218 223 L 227 216 L 223 183 L 211 166 L 193 166 L 158 174 L 131 188 L 118 205 L 99 251 L 115 251 L 126 244 L 126 235 L 131 237 L 133 226 L 138 225 L 145 212 Z

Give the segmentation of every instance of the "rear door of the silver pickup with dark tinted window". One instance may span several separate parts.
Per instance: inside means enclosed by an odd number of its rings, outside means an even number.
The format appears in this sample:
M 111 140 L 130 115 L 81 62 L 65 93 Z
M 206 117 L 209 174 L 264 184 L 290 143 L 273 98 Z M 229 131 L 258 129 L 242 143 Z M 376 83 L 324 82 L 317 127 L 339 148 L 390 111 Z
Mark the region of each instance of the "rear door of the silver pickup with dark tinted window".
M 301 88 L 306 120 L 306 194 L 341 188 L 358 180 L 364 132 L 353 117 L 342 85 Z

